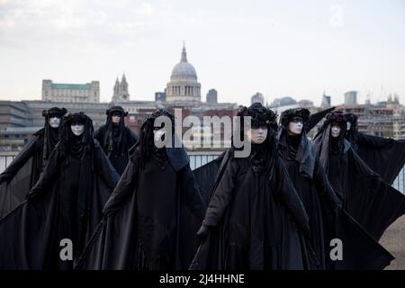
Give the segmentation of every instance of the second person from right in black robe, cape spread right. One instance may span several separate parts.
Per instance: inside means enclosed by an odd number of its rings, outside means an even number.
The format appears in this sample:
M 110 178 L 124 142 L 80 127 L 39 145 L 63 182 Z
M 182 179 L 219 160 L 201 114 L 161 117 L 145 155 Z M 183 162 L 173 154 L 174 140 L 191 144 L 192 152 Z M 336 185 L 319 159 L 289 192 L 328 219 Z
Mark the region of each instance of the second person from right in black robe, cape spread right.
M 329 113 L 314 139 L 317 154 L 345 210 L 378 240 L 405 213 L 405 196 L 365 164 L 346 132 L 345 114 Z

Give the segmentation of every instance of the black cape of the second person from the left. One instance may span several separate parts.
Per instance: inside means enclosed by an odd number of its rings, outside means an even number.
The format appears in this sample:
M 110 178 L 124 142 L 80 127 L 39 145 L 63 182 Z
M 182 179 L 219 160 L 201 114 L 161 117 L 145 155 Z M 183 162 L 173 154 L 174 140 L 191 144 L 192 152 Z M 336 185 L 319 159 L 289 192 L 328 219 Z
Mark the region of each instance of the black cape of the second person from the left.
M 80 178 L 71 179 L 59 144 L 32 187 L 33 196 L 0 220 L 0 269 L 71 268 L 72 261 L 58 257 L 60 239 L 73 236 L 77 257 L 102 218 L 103 205 L 119 175 L 94 140 L 93 155 L 85 151 L 80 162 Z M 76 218 L 66 219 L 71 212 L 66 203 L 72 184 L 78 188 Z M 72 225 L 76 225 L 75 235 Z

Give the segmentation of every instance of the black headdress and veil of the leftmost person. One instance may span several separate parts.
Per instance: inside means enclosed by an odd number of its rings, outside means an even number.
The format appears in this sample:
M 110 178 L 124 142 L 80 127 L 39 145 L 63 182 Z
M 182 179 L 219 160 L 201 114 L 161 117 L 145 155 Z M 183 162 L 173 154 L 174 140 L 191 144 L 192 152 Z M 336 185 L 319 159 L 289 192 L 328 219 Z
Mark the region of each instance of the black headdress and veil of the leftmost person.
M 45 166 L 46 161 L 48 160 L 48 157 L 50 155 L 50 152 L 52 152 L 52 149 L 56 146 L 58 143 L 59 135 L 58 135 L 58 129 L 53 129 L 49 126 L 49 118 L 50 116 L 58 116 L 60 119 L 63 118 L 63 116 L 67 113 L 67 110 L 65 108 L 58 108 L 58 107 L 52 107 L 49 108 L 48 110 L 42 111 L 42 116 L 45 118 L 45 124 L 44 124 L 44 138 L 43 138 L 43 154 L 42 154 L 42 165 Z

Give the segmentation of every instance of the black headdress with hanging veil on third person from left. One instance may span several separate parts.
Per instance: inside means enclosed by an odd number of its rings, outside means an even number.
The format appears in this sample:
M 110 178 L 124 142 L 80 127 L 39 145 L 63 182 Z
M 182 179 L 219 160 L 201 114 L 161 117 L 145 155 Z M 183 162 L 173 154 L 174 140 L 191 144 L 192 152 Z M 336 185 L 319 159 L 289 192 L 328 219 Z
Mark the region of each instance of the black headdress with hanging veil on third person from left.
M 112 124 L 112 113 L 118 112 L 120 113 L 120 123 L 115 126 Z M 121 106 L 112 106 L 110 109 L 107 109 L 105 111 L 105 114 L 107 115 L 107 121 L 105 123 L 106 126 L 106 132 L 104 134 L 104 139 L 103 139 L 103 149 L 104 151 L 107 151 L 106 154 L 108 157 L 110 157 L 113 149 L 113 138 L 118 137 L 117 140 L 117 148 L 120 150 L 118 151 L 119 155 L 123 155 L 123 153 L 126 153 L 124 148 L 127 147 L 127 138 L 124 136 L 124 129 L 125 129 L 125 120 L 124 117 L 128 115 L 128 112 L 125 112 Z M 122 142 L 122 143 L 121 143 Z

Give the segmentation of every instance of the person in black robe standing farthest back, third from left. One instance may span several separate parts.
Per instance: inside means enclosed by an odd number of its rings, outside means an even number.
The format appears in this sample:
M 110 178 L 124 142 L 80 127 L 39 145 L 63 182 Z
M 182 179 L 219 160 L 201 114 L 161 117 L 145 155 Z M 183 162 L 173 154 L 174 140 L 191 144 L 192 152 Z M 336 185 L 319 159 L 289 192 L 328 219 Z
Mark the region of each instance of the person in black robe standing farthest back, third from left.
M 124 118 L 128 115 L 121 106 L 113 106 L 106 111 L 105 125 L 95 130 L 94 138 L 98 140 L 112 166 L 122 175 L 128 164 L 129 150 L 138 141 L 138 136 L 125 126 Z

